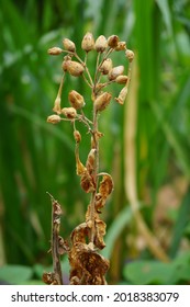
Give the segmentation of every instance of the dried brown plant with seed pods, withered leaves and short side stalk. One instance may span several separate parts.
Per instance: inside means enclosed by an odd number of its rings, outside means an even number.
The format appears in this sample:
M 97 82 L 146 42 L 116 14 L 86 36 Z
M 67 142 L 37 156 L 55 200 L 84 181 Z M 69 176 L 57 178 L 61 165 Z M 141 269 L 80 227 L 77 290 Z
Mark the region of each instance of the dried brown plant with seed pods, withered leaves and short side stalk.
M 122 86 L 114 100 L 121 105 L 124 103 L 134 53 L 127 49 L 125 42 L 121 42 L 118 35 L 111 35 L 109 38 L 101 35 L 94 41 L 93 35 L 89 32 L 82 38 L 81 48 L 85 53 L 83 59 L 79 57 L 75 43 L 68 38 L 64 38 L 63 48 L 48 49 L 49 55 L 64 55 L 64 59 L 62 61 L 63 77 L 53 107 L 54 114 L 47 117 L 47 123 L 59 124 L 67 121 L 71 124 L 76 144 L 76 173 L 80 178 L 81 189 L 89 194 L 89 205 L 85 221 L 72 230 L 69 241 L 67 241 L 59 236 L 62 207 L 49 194 L 53 207 L 51 238 L 53 272 L 43 274 L 43 281 L 47 284 L 63 284 L 60 255 L 64 253 L 67 253 L 69 260 L 71 285 L 104 285 L 107 284 L 105 273 L 109 270 L 109 260 L 99 253 L 105 247 L 103 237 L 107 227 L 100 216 L 107 198 L 113 190 L 113 180 L 109 173 L 100 171 L 99 139 L 103 137 L 103 133 L 99 130 L 99 118 L 112 100 L 112 93 L 105 91 L 110 84 Z M 88 68 L 90 52 L 96 53 L 97 56 L 93 76 Z M 124 72 L 123 65 L 114 66 L 111 59 L 114 52 L 124 54 L 128 61 L 127 72 Z M 87 99 L 76 90 L 71 90 L 68 93 L 69 104 L 63 107 L 62 93 L 67 75 L 82 78 L 91 90 L 91 96 Z M 91 103 L 91 118 L 86 115 L 87 102 Z M 80 160 L 79 149 L 81 150 L 82 140 L 77 127 L 79 122 L 86 126 L 91 139 L 86 162 Z

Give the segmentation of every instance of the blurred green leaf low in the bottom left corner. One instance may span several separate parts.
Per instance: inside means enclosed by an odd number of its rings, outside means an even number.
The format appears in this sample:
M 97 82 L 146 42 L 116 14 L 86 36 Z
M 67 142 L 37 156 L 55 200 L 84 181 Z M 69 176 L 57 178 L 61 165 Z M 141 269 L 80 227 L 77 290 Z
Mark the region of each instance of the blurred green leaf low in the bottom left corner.
M 3 265 L 0 268 L 0 280 L 12 284 L 22 284 L 33 275 L 33 270 L 24 265 Z

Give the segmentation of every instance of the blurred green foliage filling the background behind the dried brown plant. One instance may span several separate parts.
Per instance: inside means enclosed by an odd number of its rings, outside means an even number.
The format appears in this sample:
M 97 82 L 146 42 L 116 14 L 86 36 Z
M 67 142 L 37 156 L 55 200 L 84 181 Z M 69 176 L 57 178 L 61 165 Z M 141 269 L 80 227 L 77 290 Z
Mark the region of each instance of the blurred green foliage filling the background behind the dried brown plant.
M 105 134 L 100 143 L 101 169 L 115 182 L 104 213 L 109 282 L 190 283 L 189 4 L 189 0 L 1 0 L 0 278 L 24 283 L 40 278 L 36 265 L 51 264 L 46 191 L 63 205 L 63 237 L 83 220 L 88 198 L 75 173 L 72 132 L 67 123 L 46 124 L 62 73 L 60 60 L 46 50 L 62 46 L 64 37 L 80 49 L 83 34 L 91 31 L 94 37 L 116 34 L 135 50 L 141 212 L 172 259 L 169 264 L 153 259 L 136 231 L 124 191 L 124 112 L 113 103 L 100 120 Z M 80 80 L 66 82 L 66 104 L 74 88 L 87 90 Z M 83 159 L 88 141 L 83 130 Z M 26 271 L 14 265 L 25 265 Z M 139 275 L 143 265 L 149 273 Z M 12 277 L 14 270 L 20 271 L 20 281 Z

